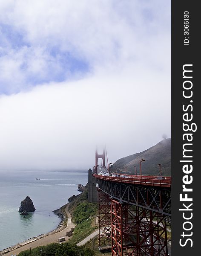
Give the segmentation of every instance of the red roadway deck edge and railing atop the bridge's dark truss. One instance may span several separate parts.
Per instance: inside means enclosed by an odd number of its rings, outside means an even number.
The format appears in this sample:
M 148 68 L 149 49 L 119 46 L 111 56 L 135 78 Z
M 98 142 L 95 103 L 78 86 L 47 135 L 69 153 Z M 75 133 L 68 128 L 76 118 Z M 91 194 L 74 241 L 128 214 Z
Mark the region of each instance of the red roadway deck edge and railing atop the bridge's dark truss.
M 135 184 L 135 185 L 143 185 L 143 186 L 157 186 L 157 187 L 166 187 L 171 188 L 172 179 L 171 177 L 163 177 L 164 179 L 158 179 L 158 176 L 144 176 L 140 177 L 140 175 L 119 175 L 120 177 L 113 176 L 103 176 L 93 174 L 99 180 L 107 180 L 117 183 L 127 183 L 127 184 Z

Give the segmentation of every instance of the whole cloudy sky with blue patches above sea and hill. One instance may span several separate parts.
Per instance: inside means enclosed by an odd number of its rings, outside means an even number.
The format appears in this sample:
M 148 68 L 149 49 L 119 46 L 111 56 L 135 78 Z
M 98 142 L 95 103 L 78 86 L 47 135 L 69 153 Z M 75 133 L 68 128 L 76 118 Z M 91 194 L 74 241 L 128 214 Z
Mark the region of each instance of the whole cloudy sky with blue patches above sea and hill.
M 0 170 L 87 170 L 163 134 L 170 0 L 0 0 Z

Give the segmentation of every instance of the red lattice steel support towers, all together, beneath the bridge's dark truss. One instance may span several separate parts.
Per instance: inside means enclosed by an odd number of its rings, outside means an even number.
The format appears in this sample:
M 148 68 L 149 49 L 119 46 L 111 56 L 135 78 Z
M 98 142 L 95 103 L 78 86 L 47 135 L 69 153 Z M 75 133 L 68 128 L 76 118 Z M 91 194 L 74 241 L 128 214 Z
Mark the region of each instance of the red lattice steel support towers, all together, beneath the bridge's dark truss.
M 99 249 L 109 246 L 112 256 L 167 256 L 165 216 L 99 190 Z

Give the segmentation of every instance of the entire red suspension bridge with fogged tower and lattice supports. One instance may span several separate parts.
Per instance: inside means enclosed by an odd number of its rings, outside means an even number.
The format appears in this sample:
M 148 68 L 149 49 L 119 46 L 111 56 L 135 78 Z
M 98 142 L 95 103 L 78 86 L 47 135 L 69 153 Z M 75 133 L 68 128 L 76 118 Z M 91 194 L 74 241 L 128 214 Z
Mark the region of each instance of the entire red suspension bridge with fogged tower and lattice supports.
M 100 251 L 110 250 L 112 256 L 169 255 L 171 177 L 109 173 L 105 151 L 98 154 L 96 150 L 93 172 L 89 169 L 88 198 L 99 205 Z

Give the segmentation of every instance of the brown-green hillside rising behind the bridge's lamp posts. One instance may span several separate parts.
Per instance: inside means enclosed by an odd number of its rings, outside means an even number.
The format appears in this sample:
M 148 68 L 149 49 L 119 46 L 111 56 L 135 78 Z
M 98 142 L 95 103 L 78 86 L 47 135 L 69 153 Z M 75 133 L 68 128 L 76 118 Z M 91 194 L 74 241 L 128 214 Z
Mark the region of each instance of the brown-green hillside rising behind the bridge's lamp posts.
M 161 140 L 158 144 L 140 153 L 120 158 L 110 166 L 110 170 L 111 172 L 125 173 L 126 169 L 127 174 L 135 174 L 134 166 L 137 166 L 139 175 L 141 159 L 145 160 L 142 162 L 142 175 L 159 175 L 158 163 L 160 163 L 162 175 L 171 176 L 171 138 Z

